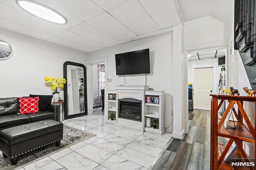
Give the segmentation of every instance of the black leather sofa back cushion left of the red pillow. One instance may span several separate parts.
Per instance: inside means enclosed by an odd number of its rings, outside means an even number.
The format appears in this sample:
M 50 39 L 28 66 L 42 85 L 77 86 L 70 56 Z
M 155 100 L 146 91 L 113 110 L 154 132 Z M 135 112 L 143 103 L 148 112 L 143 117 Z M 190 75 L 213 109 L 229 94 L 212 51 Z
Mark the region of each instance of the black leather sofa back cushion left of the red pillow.
M 0 98 L 0 116 L 19 113 L 19 109 L 20 105 L 18 97 Z

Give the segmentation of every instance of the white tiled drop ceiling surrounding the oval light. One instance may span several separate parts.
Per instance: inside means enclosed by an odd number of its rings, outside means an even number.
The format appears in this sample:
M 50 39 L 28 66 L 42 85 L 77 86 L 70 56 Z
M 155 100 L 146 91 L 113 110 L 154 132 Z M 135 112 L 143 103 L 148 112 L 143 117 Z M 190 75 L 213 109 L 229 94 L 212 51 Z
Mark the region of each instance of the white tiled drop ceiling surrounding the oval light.
M 206 16 L 232 20 L 232 0 L 36 0 L 68 20 L 54 24 L 0 0 L 0 28 L 90 52 L 172 31 Z

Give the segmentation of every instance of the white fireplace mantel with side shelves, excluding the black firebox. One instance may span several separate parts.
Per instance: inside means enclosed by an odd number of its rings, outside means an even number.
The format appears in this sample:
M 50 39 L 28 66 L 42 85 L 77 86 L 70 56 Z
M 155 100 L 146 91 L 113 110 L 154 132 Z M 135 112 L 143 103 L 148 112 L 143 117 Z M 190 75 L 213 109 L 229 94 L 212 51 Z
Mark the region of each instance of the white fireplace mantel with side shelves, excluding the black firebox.
M 153 132 L 163 134 L 164 132 L 164 91 L 149 91 L 149 86 L 116 86 L 116 90 L 106 90 L 105 93 L 105 119 L 108 123 L 114 123 L 120 127 L 132 128 L 144 132 Z M 116 99 L 109 99 L 109 95 L 116 95 Z M 147 96 L 158 96 L 159 103 L 147 103 Z M 137 99 L 141 101 L 141 121 L 134 121 L 118 117 L 120 99 Z M 110 113 L 116 114 L 116 120 L 111 121 Z M 153 129 L 146 126 L 146 117 L 159 120 L 159 129 Z

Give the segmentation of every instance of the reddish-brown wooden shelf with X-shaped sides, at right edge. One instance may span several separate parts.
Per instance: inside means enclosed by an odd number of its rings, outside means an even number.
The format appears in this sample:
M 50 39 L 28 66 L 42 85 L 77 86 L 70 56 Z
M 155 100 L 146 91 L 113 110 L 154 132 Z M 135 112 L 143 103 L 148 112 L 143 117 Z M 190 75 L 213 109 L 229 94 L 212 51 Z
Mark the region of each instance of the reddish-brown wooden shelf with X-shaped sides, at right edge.
M 256 162 L 256 97 L 248 96 L 234 96 L 234 95 L 210 95 L 212 96 L 211 104 L 211 170 L 217 169 L 241 169 L 241 166 L 233 166 L 231 161 L 225 162 L 224 157 L 228 153 L 233 142 L 236 142 L 237 149 L 233 153 L 232 158 L 239 159 L 239 162 Z M 220 103 L 218 104 L 218 100 Z M 218 111 L 224 101 L 229 101 L 226 111 L 221 119 L 218 119 Z M 248 114 L 244 110 L 243 102 L 248 101 L 254 103 L 254 126 L 252 125 Z M 234 108 L 238 107 L 238 111 Z M 225 119 L 228 113 L 232 111 L 237 121 L 228 121 L 228 125 L 234 126 L 232 128 L 224 128 Z M 250 113 L 252 114 L 252 113 Z M 218 136 L 229 138 L 226 144 L 218 143 Z M 249 158 L 243 148 L 243 142 L 250 142 L 254 144 L 254 158 Z M 225 146 L 225 148 L 224 148 Z M 223 149 L 224 148 L 224 149 Z M 252 156 L 251 156 L 252 157 Z M 255 166 L 244 166 L 243 169 L 254 170 Z

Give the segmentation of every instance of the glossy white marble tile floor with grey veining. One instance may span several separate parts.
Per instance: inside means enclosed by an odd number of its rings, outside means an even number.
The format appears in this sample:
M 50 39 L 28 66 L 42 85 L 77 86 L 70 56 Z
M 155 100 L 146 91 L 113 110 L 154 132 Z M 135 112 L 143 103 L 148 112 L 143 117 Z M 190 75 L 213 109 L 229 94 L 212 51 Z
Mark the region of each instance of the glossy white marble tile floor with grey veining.
M 147 170 L 168 146 L 172 133 L 139 132 L 104 122 L 102 107 L 62 122 L 96 136 L 20 170 Z M 173 139 L 173 138 L 172 138 Z

